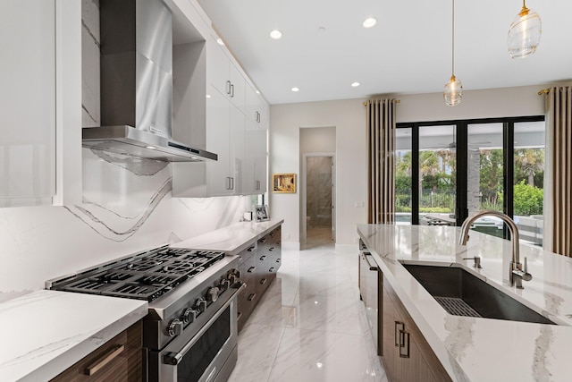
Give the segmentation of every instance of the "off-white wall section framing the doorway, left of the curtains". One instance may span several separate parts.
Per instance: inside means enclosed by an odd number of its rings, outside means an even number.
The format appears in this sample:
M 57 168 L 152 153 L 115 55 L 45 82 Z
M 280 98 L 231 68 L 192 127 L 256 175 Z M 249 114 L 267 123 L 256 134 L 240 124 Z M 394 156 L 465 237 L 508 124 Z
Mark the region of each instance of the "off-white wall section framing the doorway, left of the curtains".
M 300 128 L 334 126 L 336 131 L 336 227 L 338 244 L 352 244 L 356 224 L 366 221 L 366 114 L 364 99 L 273 105 L 270 112 L 270 174 L 300 171 Z M 271 216 L 283 218 L 282 242 L 299 247 L 300 192 L 270 193 Z

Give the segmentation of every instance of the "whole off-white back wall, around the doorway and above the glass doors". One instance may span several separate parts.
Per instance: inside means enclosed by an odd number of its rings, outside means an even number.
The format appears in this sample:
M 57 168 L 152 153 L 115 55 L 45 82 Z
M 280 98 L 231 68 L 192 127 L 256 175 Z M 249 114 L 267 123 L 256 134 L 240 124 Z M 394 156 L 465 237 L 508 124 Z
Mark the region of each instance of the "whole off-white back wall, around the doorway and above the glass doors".
M 560 83 L 562 85 L 564 83 Z M 552 86 L 552 85 L 550 85 Z M 459 106 L 444 104 L 442 93 L 393 96 L 400 99 L 397 121 L 421 122 L 469 118 L 543 115 L 549 85 L 465 90 Z M 387 97 L 387 96 L 385 96 Z M 383 98 L 383 96 L 380 96 Z M 356 245 L 356 224 L 366 223 L 366 99 L 273 105 L 270 123 L 270 174 L 298 172 L 300 127 L 336 127 L 336 245 Z M 299 246 L 300 194 L 270 194 L 272 216 L 283 218 L 282 242 Z

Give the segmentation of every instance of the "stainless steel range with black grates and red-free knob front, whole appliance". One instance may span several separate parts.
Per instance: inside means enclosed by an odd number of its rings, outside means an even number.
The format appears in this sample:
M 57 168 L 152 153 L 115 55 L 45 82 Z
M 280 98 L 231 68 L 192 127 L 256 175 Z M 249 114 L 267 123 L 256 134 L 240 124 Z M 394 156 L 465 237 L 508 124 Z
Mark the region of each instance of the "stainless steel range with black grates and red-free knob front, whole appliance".
M 47 289 L 149 301 L 147 380 L 225 381 L 237 359 L 238 258 L 168 245 L 46 281 Z

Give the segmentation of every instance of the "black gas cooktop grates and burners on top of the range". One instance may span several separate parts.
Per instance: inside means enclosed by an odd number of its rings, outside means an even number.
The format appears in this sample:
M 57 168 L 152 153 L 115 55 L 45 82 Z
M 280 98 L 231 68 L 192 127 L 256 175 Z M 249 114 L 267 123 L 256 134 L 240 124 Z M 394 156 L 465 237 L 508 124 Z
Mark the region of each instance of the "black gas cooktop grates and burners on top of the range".
M 220 251 L 164 246 L 58 279 L 50 288 L 153 301 L 223 258 Z

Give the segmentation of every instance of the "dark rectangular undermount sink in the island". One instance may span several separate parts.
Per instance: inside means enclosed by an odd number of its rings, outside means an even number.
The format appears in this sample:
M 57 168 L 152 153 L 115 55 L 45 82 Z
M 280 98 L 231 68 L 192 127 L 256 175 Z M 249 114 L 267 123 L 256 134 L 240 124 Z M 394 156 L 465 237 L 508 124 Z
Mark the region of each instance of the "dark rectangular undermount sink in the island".
M 556 325 L 462 267 L 402 265 L 451 315 Z

